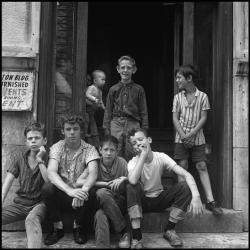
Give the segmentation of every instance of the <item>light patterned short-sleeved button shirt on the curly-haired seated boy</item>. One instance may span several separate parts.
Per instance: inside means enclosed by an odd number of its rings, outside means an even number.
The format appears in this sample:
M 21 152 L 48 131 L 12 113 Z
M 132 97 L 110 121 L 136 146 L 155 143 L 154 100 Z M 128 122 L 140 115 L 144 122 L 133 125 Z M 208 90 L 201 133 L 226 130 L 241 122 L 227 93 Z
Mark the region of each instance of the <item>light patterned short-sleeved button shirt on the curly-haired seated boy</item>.
M 100 159 L 94 146 L 81 140 L 81 145 L 72 159 L 69 159 L 69 148 L 60 140 L 50 148 L 49 159 L 58 162 L 58 174 L 69 186 L 74 187 L 78 177 L 87 169 L 91 161 Z

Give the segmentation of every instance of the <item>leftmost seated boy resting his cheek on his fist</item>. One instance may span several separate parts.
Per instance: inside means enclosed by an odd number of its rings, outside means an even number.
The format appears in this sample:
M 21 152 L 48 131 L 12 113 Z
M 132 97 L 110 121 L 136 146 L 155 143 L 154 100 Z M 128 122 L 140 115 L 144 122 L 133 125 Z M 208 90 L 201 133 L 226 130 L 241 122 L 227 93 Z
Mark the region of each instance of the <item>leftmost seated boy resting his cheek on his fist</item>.
M 15 178 L 20 189 L 10 205 L 2 208 L 2 225 L 25 219 L 28 248 L 42 248 L 41 223 L 46 206 L 41 190 L 48 182 L 46 163 L 46 130 L 43 124 L 33 122 L 24 130 L 27 148 L 11 155 L 8 173 L 2 187 L 2 205 Z

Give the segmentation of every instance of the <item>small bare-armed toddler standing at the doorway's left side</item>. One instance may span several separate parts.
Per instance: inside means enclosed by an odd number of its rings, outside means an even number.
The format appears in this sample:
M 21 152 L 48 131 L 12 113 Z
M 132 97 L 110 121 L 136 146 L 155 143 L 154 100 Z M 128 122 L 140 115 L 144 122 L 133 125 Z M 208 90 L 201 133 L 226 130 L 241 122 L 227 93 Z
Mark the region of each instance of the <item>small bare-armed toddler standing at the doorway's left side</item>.
M 102 101 L 102 88 L 106 81 L 106 75 L 102 70 L 94 70 L 92 72 L 92 84 L 86 91 L 86 138 L 89 138 L 89 143 L 95 147 L 99 146 L 98 129 L 95 121 L 95 112 L 98 108 L 105 110 Z

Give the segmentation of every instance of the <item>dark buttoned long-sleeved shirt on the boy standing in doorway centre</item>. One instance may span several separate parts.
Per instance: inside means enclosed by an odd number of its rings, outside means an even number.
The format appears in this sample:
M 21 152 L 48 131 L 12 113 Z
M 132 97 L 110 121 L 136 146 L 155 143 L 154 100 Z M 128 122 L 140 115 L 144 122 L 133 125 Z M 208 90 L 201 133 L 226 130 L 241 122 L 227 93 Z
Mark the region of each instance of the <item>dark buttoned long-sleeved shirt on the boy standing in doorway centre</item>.
M 110 129 L 114 117 L 129 117 L 140 122 L 141 127 L 148 128 L 148 111 L 144 88 L 133 81 L 119 82 L 112 86 L 106 99 L 103 128 Z

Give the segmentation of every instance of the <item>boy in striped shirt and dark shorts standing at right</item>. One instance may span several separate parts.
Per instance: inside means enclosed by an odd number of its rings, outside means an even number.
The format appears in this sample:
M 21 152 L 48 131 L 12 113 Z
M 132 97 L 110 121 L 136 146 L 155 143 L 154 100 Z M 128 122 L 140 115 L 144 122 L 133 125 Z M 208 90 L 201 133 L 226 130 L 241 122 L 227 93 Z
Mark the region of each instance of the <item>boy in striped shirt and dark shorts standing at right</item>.
M 215 215 L 221 215 L 223 211 L 214 201 L 212 194 L 202 129 L 207 120 L 210 104 L 207 95 L 195 86 L 196 76 L 197 71 L 192 65 L 180 66 L 175 72 L 180 92 L 174 96 L 172 110 L 176 129 L 174 159 L 184 169 L 188 169 L 188 158 L 191 153 L 207 198 L 206 208 Z M 179 181 L 181 180 L 179 178 Z

